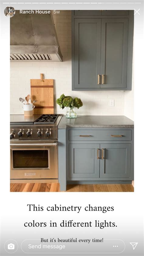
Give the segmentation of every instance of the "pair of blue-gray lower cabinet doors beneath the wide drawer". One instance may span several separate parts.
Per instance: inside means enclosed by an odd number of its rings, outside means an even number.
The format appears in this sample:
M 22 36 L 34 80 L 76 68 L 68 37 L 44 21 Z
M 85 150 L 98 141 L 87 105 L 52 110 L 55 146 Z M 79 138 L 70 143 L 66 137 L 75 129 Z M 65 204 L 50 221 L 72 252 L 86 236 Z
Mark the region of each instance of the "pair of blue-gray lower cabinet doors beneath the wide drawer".
M 69 144 L 69 178 L 129 178 L 131 144 Z

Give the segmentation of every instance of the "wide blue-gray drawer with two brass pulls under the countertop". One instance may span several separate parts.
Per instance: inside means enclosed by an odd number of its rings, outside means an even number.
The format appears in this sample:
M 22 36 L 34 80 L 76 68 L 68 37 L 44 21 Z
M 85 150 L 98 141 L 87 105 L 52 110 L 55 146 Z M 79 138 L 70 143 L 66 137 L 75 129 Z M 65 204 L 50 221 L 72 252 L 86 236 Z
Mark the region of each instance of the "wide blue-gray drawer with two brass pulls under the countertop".
M 132 130 L 69 130 L 69 140 L 132 140 Z

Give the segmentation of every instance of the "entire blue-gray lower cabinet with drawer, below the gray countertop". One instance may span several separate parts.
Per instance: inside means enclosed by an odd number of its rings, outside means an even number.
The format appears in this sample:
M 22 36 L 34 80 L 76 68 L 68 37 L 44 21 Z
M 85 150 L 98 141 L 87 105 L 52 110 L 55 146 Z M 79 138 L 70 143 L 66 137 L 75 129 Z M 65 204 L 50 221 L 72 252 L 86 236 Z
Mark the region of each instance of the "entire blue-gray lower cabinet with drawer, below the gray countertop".
M 72 120 L 73 121 L 73 120 Z M 134 128 L 58 130 L 59 183 L 131 184 L 134 180 Z

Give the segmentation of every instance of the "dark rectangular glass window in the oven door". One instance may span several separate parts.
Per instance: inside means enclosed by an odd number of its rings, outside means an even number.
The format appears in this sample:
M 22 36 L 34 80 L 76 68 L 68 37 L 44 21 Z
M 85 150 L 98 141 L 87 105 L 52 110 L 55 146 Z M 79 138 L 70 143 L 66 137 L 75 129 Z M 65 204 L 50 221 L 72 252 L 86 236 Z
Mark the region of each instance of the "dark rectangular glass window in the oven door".
M 13 150 L 13 168 L 48 168 L 48 150 Z

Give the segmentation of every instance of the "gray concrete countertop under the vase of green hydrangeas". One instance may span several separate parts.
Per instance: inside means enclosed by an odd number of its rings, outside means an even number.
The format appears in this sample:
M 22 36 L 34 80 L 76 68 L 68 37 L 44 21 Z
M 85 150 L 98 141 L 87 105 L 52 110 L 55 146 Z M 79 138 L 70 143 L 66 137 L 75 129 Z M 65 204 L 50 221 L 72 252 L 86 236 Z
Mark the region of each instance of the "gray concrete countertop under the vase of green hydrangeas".
M 68 119 L 63 116 L 58 129 L 70 128 L 133 128 L 134 122 L 126 116 L 77 116 Z

